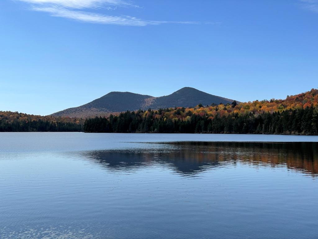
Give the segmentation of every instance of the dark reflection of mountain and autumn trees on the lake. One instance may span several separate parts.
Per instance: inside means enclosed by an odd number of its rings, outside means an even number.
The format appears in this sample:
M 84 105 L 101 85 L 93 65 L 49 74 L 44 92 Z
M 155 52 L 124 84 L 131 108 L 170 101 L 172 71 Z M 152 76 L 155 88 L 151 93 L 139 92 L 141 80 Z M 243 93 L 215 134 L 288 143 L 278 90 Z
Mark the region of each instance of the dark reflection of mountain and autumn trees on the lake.
M 156 143 L 151 143 L 156 144 Z M 284 167 L 318 174 L 318 143 L 259 143 L 259 142 L 168 142 L 159 148 L 130 150 L 93 150 L 80 152 L 110 171 L 136 170 L 151 163 L 160 163 L 182 175 L 195 175 L 204 170 L 247 163 L 254 167 Z M 164 148 L 160 146 L 170 145 Z

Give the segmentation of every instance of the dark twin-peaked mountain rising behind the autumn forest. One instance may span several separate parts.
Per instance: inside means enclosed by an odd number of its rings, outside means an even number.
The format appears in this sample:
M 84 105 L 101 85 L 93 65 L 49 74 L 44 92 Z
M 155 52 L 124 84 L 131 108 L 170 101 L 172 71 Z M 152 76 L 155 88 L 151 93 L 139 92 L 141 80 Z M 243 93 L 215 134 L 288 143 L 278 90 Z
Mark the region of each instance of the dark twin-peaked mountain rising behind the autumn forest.
M 52 116 L 91 117 L 127 110 L 189 107 L 198 104 L 205 106 L 213 103 L 231 104 L 232 102 L 232 99 L 211 95 L 191 87 L 184 87 L 170 95 L 161 97 L 113 91 L 85 105 L 53 113 Z

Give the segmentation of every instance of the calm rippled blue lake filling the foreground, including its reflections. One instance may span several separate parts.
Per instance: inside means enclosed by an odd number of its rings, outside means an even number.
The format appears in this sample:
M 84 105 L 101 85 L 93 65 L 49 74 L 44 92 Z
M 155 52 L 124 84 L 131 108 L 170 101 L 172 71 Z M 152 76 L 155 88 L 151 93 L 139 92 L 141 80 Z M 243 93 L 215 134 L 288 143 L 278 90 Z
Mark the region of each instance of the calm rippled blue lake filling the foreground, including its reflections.
M 317 136 L 0 133 L 1 239 L 317 239 L 317 202 Z

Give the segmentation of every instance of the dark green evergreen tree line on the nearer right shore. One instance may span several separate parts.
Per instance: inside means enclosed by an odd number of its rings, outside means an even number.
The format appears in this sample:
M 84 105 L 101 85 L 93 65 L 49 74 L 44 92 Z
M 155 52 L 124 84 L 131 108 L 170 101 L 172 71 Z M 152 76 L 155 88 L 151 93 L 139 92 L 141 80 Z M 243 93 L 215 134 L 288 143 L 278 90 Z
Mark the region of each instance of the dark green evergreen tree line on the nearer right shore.
M 102 133 L 227 133 L 227 134 L 308 134 L 317 135 L 318 108 L 311 105 L 305 109 L 255 114 L 230 113 L 227 116 L 193 114 L 185 112 L 186 118 L 177 117 L 184 108 L 122 112 L 108 118 L 86 119 L 84 132 Z M 174 112 L 174 118 L 166 117 Z M 168 113 L 168 114 L 167 114 Z M 180 114 L 179 114 L 180 115 Z

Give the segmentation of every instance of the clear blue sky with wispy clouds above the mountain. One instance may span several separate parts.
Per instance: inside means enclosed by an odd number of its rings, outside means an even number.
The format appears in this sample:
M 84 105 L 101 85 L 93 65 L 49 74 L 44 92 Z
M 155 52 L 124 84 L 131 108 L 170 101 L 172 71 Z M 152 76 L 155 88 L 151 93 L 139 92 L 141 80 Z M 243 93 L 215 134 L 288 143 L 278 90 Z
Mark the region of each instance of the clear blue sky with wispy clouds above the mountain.
M 317 0 L 1 0 L 0 110 L 184 86 L 252 101 L 318 87 Z

